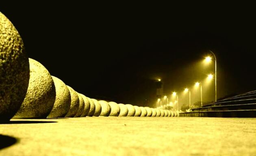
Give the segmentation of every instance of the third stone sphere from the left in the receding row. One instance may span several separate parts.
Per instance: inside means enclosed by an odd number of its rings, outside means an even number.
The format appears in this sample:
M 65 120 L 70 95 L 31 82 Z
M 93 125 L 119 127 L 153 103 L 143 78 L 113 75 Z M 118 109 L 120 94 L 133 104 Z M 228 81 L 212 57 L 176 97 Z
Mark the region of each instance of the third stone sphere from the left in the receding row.
M 71 104 L 69 90 L 65 83 L 59 78 L 52 76 L 52 79 L 55 85 L 56 98 L 48 117 L 65 117 Z

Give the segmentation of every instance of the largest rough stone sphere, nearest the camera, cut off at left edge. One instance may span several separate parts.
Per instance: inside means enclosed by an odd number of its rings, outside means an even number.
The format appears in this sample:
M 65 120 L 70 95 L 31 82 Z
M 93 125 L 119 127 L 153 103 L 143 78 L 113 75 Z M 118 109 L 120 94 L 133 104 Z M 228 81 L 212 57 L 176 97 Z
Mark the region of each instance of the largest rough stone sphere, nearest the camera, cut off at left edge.
M 19 32 L 0 12 L 0 123 L 20 108 L 28 89 L 29 62 Z

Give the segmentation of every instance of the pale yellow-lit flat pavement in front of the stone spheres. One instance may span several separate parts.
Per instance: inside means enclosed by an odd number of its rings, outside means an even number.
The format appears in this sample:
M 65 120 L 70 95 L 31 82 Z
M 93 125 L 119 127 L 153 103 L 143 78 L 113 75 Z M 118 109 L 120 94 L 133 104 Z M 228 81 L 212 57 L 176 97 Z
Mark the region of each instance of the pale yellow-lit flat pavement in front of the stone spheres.
M 0 156 L 256 156 L 256 118 L 12 119 L 0 134 L 17 139 Z

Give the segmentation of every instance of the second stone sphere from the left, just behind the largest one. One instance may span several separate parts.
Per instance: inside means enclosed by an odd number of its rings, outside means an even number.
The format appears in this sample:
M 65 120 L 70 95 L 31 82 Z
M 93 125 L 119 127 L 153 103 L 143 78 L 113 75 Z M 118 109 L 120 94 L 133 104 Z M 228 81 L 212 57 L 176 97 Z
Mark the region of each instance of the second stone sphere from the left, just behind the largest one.
M 56 98 L 54 82 L 41 63 L 29 58 L 29 67 L 28 91 L 14 118 L 46 118 Z

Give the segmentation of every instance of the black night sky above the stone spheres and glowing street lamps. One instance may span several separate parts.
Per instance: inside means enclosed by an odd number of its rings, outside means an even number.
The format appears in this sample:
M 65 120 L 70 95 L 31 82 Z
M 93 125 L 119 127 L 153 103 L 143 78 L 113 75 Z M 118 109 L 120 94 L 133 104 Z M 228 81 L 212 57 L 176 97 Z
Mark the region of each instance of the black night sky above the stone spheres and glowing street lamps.
M 200 65 L 207 50 L 217 57 L 218 98 L 256 89 L 250 9 L 115 5 L 27 2 L 1 4 L 0 11 L 30 58 L 90 98 L 140 106 L 148 99 L 151 106 L 154 79 L 163 79 L 168 94 L 213 73 Z

